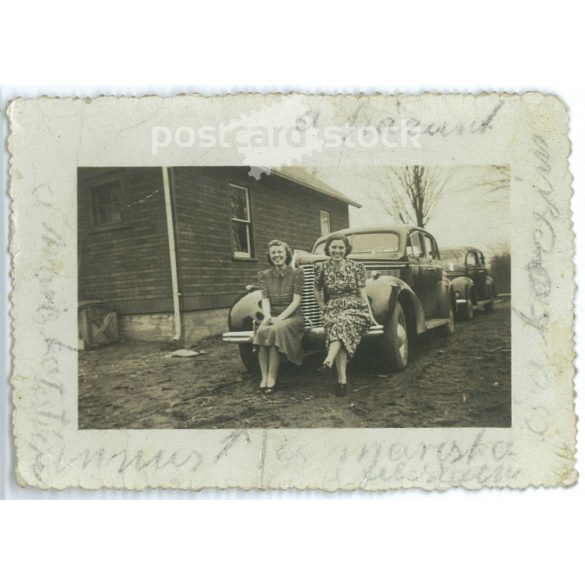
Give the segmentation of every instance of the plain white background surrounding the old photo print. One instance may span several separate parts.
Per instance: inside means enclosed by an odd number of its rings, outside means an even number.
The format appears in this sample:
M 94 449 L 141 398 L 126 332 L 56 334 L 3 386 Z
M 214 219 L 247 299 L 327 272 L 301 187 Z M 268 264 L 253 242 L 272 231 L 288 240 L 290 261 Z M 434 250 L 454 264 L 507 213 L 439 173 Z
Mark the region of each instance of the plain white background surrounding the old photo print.
M 576 4 L 406 4 L 13 2 L 0 12 L 0 103 L 15 95 L 190 91 L 554 92 L 570 108 L 583 283 L 585 43 Z M 0 209 L 4 249 L 5 197 Z M 384 495 L 17 488 L 5 252 L 0 261 L 0 494 L 12 500 L 0 505 L 3 582 L 584 582 L 582 485 Z M 582 291 L 576 308 L 585 354 Z M 582 386 L 581 375 L 583 418 Z M 159 501 L 14 501 L 96 498 Z

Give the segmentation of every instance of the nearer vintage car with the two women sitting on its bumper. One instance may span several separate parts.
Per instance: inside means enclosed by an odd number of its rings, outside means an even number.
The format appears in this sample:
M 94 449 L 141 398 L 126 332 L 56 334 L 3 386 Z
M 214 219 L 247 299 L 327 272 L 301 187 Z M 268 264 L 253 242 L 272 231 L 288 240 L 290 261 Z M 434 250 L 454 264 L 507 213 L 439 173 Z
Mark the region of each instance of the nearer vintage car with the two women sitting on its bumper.
M 451 335 L 455 324 L 455 292 L 440 263 L 435 238 L 412 226 L 345 229 L 352 245 L 351 259 L 366 266 L 366 292 L 372 311 L 383 327 L 372 326 L 365 342 L 377 344 L 382 365 L 398 371 L 408 364 L 409 344 L 417 335 L 436 329 Z M 304 348 L 324 349 L 321 311 L 314 296 L 314 266 L 327 259 L 322 237 L 311 253 L 295 251 L 293 262 L 305 274 L 302 310 L 306 331 Z M 254 323 L 262 319 L 261 294 L 254 285 L 246 287 L 229 311 L 229 332 L 223 340 L 239 344 L 242 361 L 250 371 L 257 368 L 252 338 Z

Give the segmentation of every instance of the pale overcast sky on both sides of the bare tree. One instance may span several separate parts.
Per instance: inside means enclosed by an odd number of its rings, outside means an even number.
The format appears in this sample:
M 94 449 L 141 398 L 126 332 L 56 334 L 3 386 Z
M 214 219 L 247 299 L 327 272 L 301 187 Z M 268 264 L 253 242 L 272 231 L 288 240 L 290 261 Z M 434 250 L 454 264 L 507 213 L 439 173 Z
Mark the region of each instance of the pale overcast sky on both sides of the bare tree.
M 446 180 L 427 229 L 435 236 L 439 248 L 467 245 L 482 249 L 486 255 L 509 242 L 510 189 L 490 192 L 481 186 L 482 179 L 493 176 L 493 167 L 468 166 L 434 169 Z M 384 209 L 388 201 L 386 177 L 390 167 L 319 167 L 317 176 L 341 193 L 362 204 L 350 207 L 350 225 L 379 226 L 396 223 Z

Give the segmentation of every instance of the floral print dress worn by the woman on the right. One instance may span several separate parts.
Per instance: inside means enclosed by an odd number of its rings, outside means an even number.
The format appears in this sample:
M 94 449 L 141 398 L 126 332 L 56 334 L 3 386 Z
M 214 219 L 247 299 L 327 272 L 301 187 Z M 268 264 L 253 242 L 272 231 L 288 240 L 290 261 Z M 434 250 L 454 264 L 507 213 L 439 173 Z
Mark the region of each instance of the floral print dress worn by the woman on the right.
M 355 353 L 368 330 L 370 314 L 359 289 L 366 286 L 363 264 L 345 259 L 339 266 L 331 260 L 315 264 L 315 287 L 324 291 L 325 341 L 341 341 L 348 357 Z

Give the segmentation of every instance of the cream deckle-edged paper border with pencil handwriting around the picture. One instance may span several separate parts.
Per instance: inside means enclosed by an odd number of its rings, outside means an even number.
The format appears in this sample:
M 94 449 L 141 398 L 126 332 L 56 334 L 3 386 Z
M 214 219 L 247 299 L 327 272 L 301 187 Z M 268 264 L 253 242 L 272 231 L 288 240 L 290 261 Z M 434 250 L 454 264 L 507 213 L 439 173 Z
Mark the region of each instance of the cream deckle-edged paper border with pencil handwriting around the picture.
M 153 126 L 265 125 L 357 108 L 455 130 L 377 164 L 510 164 L 510 429 L 77 430 L 78 166 L 318 166 L 331 156 L 172 146 Z M 493 112 L 497 112 L 494 115 Z M 16 100 L 9 109 L 13 400 L 19 483 L 41 488 L 382 490 L 567 486 L 576 481 L 573 237 L 564 105 L 522 95 L 231 95 Z M 344 118 L 345 119 L 345 118 Z M 483 126 L 482 126 L 483 124 Z M 459 131 L 460 129 L 460 131 Z M 344 154 L 340 148 L 338 154 Z

